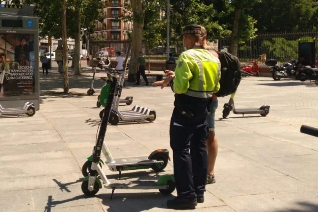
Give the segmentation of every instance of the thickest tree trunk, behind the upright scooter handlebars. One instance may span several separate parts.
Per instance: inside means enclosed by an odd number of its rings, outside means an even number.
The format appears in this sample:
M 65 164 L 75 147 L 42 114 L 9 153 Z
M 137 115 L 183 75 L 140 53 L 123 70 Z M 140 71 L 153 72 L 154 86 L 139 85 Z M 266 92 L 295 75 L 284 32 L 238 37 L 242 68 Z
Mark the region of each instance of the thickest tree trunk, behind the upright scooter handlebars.
M 137 72 L 137 58 L 141 50 L 142 34 L 144 28 L 144 11 L 142 0 L 132 0 L 133 10 L 133 36 L 132 49 L 129 62 L 128 81 L 135 82 L 135 75 Z

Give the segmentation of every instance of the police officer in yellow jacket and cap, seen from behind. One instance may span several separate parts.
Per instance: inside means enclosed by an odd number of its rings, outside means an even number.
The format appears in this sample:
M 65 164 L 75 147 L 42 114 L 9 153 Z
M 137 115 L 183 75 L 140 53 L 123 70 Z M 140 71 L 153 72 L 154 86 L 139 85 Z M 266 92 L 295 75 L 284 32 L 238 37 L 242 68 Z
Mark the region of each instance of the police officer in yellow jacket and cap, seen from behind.
M 207 105 L 220 88 L 220 61 L 200 45 L 201 26 L 186 26 L 182 37 L 186 51 L 180 54 L 175 72 L 165 71 L 167 78 L 173 80 L 171 89 L 175 93 L 170 146 L 178 196 L 167 201 L 172 209 L 192 209 L 204 202 Z M 167 85 L 166 81 L 159 84 L 162 88 Z

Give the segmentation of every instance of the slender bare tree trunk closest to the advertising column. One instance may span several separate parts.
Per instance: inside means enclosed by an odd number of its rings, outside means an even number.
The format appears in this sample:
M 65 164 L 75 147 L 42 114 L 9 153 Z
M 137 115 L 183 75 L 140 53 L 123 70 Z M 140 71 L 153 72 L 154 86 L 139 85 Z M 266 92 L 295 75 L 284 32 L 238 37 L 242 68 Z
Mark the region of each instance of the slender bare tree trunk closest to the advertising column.
M 66 0 L 62 0 L 63 93 L 69 93 L 68 44 L 66 35 Z

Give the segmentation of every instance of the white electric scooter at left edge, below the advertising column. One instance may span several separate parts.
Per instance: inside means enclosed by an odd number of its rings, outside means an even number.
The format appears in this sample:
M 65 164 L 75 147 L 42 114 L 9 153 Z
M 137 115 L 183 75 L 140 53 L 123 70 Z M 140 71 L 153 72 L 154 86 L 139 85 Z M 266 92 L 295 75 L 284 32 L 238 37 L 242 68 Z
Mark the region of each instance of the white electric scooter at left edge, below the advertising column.
M 5 70 L 0 73 L 0 96 L 2 91 L 2 84 L 5 77 Z M 34 116 L 35 107 L 33 103 L 26 102 L 23 107 L 3 108 L 0 104 L 0 115 L 17 115 L 26 114 L 27 116 Z

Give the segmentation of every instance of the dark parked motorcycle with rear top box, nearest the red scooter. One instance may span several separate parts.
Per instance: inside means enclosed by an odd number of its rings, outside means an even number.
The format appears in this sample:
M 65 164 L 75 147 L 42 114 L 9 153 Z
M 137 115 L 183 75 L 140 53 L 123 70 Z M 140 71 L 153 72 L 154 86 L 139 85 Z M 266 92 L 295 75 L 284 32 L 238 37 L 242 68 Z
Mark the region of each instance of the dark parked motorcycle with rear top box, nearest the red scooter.
M 270 72 L 272 78 L 275 81 L 279 81 L 282 77 L 286 78 L 288 76 L 295 77 L 296 71 L 294 70 L 296 61 L 291 60 L 289 63 L 285 63 L 283 66 L 277 64 L 277 60 L 271 59 L 265 62 L 267 66 L 271 66 Z

